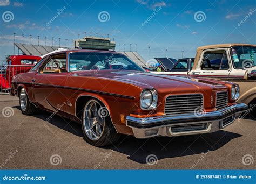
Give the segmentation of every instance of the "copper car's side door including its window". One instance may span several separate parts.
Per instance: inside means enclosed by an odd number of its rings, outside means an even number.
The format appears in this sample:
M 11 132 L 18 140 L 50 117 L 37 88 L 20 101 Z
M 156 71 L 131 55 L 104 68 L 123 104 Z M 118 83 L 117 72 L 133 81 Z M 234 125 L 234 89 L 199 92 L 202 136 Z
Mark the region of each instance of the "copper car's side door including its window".
M 44 109 L 65 112 L 66 53 L 51 55 L 32 79 L 33 98 Z

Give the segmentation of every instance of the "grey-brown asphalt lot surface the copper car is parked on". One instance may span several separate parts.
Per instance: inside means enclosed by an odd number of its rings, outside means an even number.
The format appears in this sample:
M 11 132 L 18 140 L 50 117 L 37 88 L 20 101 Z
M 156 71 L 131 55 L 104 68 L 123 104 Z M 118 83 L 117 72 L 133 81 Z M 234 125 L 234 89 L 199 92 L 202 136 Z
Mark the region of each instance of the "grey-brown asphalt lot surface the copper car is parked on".
M 98 148 L 83 140 L 78 123 L 58 116 L 46 122 L 45 111 L 24 116 L 17 97 L 0 95 L 1 112 L 6 107 L 13 111 L 0 114 L 0 169 L 255 169 L 253 116 L 206 135 L 123 136 L 116 146 Z

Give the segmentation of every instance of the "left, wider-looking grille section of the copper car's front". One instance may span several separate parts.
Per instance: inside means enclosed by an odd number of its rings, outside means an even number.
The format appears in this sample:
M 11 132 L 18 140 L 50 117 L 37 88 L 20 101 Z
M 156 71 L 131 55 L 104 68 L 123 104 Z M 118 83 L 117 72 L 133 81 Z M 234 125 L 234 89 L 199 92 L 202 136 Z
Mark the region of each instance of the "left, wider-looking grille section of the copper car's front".
M 203 95 L 170 95 L 166 98 L 165 114 L 194 113 L 196 109 L 203 108 Z

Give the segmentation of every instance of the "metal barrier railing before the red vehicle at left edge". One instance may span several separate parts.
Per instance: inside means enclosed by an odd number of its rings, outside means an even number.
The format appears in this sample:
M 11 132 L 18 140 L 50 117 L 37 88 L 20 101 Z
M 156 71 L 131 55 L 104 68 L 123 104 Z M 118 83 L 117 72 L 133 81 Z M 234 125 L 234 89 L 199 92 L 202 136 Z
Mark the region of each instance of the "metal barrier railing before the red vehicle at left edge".
M 7 93 L 12 77 L 29 72 L 32 67 L 33 65 L 0 65 L 0 92 Z

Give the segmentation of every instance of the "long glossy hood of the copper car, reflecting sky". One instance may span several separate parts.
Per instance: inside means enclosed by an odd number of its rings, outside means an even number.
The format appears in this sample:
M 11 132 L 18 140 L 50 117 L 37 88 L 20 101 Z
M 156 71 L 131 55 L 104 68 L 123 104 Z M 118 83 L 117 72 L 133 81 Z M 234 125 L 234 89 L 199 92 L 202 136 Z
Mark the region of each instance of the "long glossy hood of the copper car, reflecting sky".
M 97 72 L 96 72 L 97 71 Z M 158 75 L 146 72 L 132 72 L 120 70 L 95 70 L 86 72 L 75 72 L 79 76 L 93 76 L 104 78 L 108 80 L 115 80 L 119 82 L 130 83 L 140 88 L 155 88 L 158 91 L 186 91 L 187 93 L 194 93 L 195 91 L 207 89 L 226 89 L 225 82 L 215 80 L 202 80 L 188 77 L 178 77 L 170 75 Z

